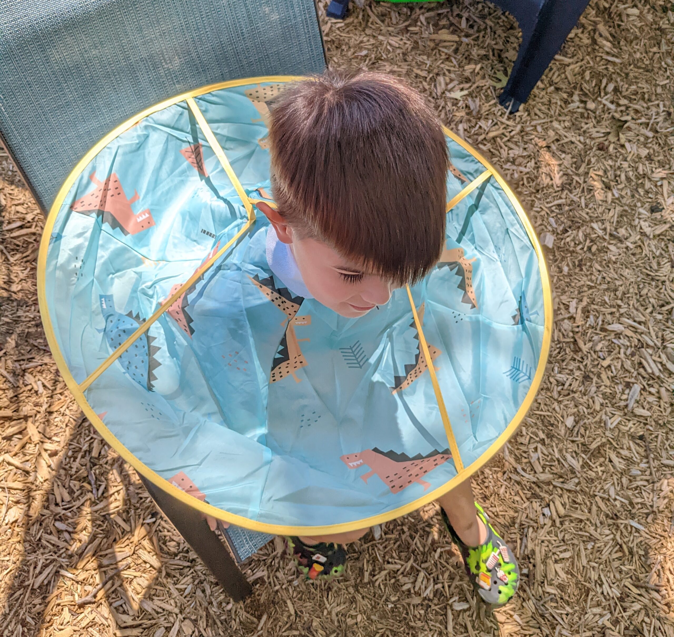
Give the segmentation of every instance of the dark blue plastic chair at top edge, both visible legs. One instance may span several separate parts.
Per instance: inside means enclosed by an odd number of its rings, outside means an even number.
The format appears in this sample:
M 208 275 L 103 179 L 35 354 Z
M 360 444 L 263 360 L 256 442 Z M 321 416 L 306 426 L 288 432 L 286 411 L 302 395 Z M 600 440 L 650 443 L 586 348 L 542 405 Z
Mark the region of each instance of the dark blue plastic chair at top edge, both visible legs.
M 518 111 L 578 22 L 588 0 L 491 0 L 516 18 L 522 44 L 499 102 Z M 349 0 L 332 0 L 326 15 L 344 18 Z

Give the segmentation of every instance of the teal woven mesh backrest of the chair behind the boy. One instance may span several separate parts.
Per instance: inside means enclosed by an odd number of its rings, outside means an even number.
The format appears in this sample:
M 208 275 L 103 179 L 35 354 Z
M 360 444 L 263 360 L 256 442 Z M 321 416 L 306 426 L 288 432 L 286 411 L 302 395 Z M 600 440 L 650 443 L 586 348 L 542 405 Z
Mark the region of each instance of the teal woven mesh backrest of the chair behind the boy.
M 43 209 L 89 148 L 152 104 L 324 67 L 313 0 L 0 2 L 0 132 Z

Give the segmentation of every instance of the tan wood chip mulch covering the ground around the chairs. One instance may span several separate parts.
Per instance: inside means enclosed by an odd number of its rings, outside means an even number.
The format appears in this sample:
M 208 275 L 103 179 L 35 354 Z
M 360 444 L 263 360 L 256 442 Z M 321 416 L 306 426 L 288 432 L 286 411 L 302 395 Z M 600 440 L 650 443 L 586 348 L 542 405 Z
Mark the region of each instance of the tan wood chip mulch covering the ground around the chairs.
M 510 117 L 510 16 L 352 5 L 321 18 L 331 63 L 408 78 L 493 158 L 546 245 L 549 369 L 475 480 L 516 547 L 518 597 L 475 602 L 431 505 L 353 545 L 341 582 L 298 580 L 272 542 L 231 603 L 65 389 L 38 315 L 42 216 L 0 154 L 3 637 L 674 637 L 674 5 L 592 0 Z

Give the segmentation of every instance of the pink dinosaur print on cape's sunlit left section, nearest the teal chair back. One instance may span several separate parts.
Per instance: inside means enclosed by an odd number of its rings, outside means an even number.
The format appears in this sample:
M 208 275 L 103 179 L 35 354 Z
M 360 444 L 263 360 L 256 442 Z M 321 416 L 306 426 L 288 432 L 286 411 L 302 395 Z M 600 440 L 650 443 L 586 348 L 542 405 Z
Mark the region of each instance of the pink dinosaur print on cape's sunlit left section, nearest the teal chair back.
M 102 216 L 103 222 L 113 228 L 119 228 L 125 235 L 137 235 L 152 226 L 154 219 L 146 208 L 137 214 L 131 210 L 131 204 L 140 199 L 137 191 L 127 199 L 119 183 L 117 173 L 112 173 L 105 181 L 96 179 L 96 171 L 89 175 L 96 188 L 78 199 L 70 206 L 74 212 Z

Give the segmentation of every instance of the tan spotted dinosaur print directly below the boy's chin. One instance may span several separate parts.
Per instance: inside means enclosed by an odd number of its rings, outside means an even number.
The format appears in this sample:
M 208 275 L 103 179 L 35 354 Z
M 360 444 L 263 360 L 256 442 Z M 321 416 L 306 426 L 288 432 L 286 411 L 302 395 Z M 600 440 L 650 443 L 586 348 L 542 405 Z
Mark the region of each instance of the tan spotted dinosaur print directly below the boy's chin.
M 269 382 L 276 383 L 286 376 L 292 376 L 295 382 L 299 383 L 300 379 L 296 372 L 301 367 L 307 367 L 307 361 L 299 344 L 309 339 L 297 338 L 295 327 L 299 325 L 311 325 L 311 316 L 297 316 L 297 312 L 304 299 L 293 296 L 287 288 L 276 288 L 272 276 L 260 280 L 256 274 L 254 278 L 251 276 L 248 278 L 287 317 L 281 324 L 286 325 L 286 331 L 278 346 L 276 357 L 274 357 Z

